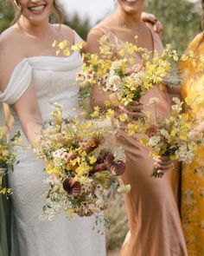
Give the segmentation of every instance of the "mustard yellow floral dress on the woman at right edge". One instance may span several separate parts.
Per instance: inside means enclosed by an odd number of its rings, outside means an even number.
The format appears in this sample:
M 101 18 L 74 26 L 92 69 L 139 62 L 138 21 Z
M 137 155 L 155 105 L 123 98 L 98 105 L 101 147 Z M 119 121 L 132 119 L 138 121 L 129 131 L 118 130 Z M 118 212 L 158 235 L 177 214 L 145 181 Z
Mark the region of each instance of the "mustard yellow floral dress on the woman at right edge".
M 191 59 L 181 62 L 182 95 L 198 123 L 204 120 L 204 37 L 196 36 L 188 46 Z M 204 255 L 204 146 L 190 164 L 182 168 L 182 226 L 189 256 Z

